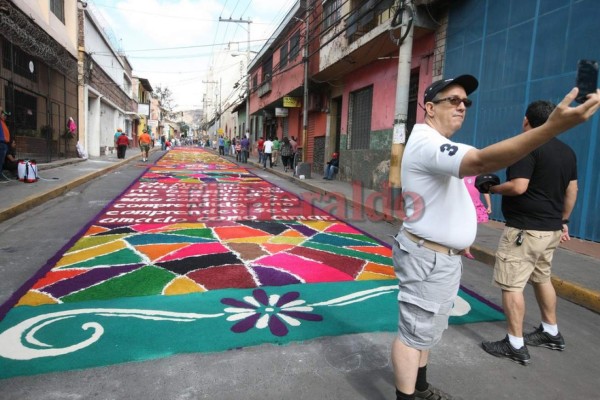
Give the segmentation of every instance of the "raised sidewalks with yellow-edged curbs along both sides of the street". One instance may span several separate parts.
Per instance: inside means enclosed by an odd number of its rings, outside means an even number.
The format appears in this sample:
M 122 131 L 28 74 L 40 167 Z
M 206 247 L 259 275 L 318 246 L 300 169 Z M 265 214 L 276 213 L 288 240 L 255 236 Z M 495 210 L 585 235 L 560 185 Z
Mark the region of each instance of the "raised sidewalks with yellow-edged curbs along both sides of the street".
M 0 185 L 0 198 L 4 205 L 0 208 L 0 222 L 56 198 L 130 161 L 141 159 L 137 149 L 130 149 L 126 157 L 125 160 L 120 160 L 116 154 L 109 154 L 88 160 L 68 159 L 39 164 L 39 181 L 24 184 L 15 180 Z M 228 156 L 227 159 L 235 162 L 232 157 Z M 254 160 L 241 166 L 262 169 Z M 269 174 L 287 178 L 318 195 L 342 196 L 360 215 L 371 216 L 374 221 L 383 218 L 399 222 L 397 213 L 389 210 L 384 212 L 383 196 L 375 191 L 359 186 L 353 187 L 350 183 L 339 180 L 324 180 L 318 175 L 309 179 L 299 179 L 292 176 L 291 172 L 285 173 L 281 166 L 269 168 L 264 172 L 267 172 L 267 178 Z M 477 261 L 493 266 L 494 253 L 503 225 L 490 221 L 478 226 L 477 239 L 471 247 L 471 253 Z M 470 261 L 465 259 L 465 264 L 468 263 Z M 553 283 L 560 297 L 600 312 L 600 243 L 572 239 L 561 245 L 554 255 L 553 272 Z

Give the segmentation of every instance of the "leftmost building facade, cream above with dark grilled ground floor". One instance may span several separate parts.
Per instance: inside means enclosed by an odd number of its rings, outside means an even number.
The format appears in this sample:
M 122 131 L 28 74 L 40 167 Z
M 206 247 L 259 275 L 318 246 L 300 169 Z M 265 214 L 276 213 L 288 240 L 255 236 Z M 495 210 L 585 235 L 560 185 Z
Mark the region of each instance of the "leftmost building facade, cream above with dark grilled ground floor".
M 19 158 L 77 156 L 77 9 L 76 0 L 0 0 L 0 103 Z

